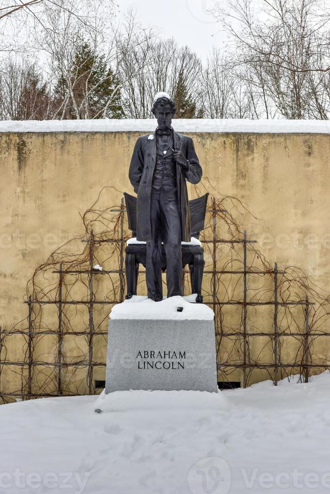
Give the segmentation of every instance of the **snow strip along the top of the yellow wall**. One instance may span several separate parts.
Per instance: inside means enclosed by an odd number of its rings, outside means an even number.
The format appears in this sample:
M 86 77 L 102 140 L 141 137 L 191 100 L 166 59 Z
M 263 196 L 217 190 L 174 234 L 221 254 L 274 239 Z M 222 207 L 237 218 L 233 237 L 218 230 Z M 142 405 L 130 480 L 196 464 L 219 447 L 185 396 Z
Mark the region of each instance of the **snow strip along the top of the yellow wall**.
M 0 132 L 153 132 L 157 122 L 146 119 L 100 120 L 3 120 Z M 257 133 L 257 134 L 330 134 L 328 120 L 249 120 L 181 118 L 173 120 L 177 132 Z

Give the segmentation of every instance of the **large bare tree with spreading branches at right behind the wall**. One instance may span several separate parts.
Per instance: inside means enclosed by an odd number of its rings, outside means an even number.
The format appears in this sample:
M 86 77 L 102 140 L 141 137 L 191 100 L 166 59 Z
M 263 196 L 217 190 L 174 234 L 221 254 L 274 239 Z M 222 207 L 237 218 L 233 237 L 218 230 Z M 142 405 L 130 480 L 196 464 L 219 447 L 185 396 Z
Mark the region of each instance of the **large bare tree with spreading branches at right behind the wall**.
M 248 70 L 252 87 L 271 99 L 285 118 L 327 118 L 330 17 L 320 0 L 228 0 L 214 15 L 232 36 L 236 65 Z M 259 11 L 256 9 L 259 8 Z M 271 111 L 270 111 L 271 113 Z

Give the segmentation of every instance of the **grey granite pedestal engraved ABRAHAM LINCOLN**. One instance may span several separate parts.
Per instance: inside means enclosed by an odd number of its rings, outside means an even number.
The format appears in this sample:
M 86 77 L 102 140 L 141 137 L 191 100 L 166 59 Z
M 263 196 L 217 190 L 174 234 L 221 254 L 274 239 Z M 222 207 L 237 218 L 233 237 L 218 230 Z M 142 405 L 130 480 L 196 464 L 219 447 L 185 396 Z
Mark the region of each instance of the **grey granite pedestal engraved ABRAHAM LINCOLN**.
M 184 305 L 182 297 L 172 298 Z M 177 308 L 166 308 L 173 317 L 171 311 Z M 185 316 L 184 311 L 189 313 L 189 307 L 185 305 L 180 315 L 188 319 L 164 319 L 159 314 L 162 319 L 158 320 L 139 316 L 109 320 L 105 393 L 131 389 L 217 392 L 214 321 L 189 319 L 194 314 Z

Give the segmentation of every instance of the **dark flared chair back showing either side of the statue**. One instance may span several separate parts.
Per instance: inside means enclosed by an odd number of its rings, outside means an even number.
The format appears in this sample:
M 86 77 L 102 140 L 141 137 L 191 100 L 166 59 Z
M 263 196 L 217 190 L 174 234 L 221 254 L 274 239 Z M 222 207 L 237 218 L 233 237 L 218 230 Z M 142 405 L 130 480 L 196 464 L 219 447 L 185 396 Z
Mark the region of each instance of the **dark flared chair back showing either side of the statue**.
M 128 227 L 133 232 L 133 237 L 136 237 L 136 212 L 137 212 L 137 198 L 131 196 L 127 192 L 124 192 Z M 191 236 L 199 238 L 199 233 L 204 229 L 205 225 L 205 214 L 207 205 L 208 193 L 204 196 L 197 197 L 189 201 L 189 212 L 190 212 L 190 229 Z

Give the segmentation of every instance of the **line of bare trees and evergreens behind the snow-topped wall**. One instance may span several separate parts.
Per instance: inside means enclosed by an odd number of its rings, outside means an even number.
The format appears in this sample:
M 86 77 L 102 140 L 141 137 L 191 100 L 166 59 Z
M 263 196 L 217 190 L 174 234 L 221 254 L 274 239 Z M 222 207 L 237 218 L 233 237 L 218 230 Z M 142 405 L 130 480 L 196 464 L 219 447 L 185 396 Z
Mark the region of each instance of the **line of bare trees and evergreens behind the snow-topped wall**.
M 1 2 L 2 118 L 148 118 L 158 91 L 177 118 L 329 118 L 324 0 L 216 3 L 230 48 L 204 65 L 134 10 L 119 22 L 113 0 Z

